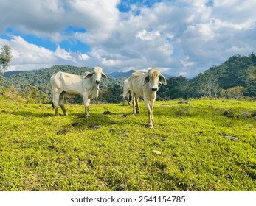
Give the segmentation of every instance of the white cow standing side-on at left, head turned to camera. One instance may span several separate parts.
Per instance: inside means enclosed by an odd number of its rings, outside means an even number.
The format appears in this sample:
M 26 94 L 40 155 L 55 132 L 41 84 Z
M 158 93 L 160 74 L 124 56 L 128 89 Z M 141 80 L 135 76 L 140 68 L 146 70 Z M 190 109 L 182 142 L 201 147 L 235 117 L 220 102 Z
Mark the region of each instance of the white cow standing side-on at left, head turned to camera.
M 99 96 L 101 77 L 107 77 L 102 70 L 100 67 L 94 67 L 94 71 L 86 71 L 82 76 L 62 71 L 53 74 L 50 82 L 52 86 L 52 107 L 55 109 L 55 116 L 58 116 L 58 105 L 60 105 L 64 115 L 67 115 L 63 104 L 65 96 L 71 98 L 80 94 L 83 97 L 83 103 L 85 105 L 85 115 L 89 117 L 90 99 Z

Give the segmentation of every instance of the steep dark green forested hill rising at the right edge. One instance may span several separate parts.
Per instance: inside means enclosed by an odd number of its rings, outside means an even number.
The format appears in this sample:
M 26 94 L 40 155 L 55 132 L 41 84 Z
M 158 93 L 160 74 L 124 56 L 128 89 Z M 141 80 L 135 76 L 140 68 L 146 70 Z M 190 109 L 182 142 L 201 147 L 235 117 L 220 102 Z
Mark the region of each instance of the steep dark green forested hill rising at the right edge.
M 256 96 L 256 55 L 235 54 L 221 65 L 213 65 L 204 74 L 198 74 L 191 82 L 199 87 L 204 85 L 207 90 L 243 87 L 246 96 Z

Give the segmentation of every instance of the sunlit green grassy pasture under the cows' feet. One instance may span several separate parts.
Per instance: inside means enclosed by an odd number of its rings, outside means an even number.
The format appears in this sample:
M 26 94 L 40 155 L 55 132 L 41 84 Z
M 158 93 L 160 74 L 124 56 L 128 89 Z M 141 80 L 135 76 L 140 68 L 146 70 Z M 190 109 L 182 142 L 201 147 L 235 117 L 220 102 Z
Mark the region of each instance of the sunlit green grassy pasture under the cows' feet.
M 256 191 L 256 103 L 178 102 L 156 102 L 148 129 L 143 102 L 83 118 L 1 95 L 0 191 Z

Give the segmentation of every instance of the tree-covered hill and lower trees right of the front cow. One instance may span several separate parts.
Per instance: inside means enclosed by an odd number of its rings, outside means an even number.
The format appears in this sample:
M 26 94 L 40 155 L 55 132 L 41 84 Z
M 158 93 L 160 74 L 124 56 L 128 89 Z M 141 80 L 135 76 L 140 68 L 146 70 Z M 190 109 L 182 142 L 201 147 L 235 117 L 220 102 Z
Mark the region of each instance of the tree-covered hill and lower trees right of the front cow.
M 170 77 L 160 88 L 159 98 L 241 99 L 256 97 L 256 55 L 235 54 L 221 65 L 213 65 L 193 79 Z

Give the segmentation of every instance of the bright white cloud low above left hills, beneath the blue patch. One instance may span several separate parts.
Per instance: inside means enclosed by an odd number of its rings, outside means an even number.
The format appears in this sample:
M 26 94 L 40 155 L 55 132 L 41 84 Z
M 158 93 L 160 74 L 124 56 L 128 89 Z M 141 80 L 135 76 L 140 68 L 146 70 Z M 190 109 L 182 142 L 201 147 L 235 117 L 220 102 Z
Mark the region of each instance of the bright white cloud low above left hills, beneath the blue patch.
M 82 66 L 90 59 L 87 54 L 66 51 L 60 46 L 57 46 L 55 51 L 51 51 L 28 43 L 20 36 L 13 36 L 11 40 L 0 38 L 0 43 L 8 44 L 12 49 L 13 60 L 10 62 L 9 71 L 47 68 L 58 64 Z

